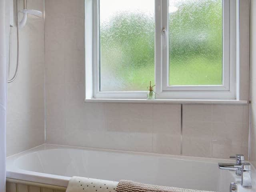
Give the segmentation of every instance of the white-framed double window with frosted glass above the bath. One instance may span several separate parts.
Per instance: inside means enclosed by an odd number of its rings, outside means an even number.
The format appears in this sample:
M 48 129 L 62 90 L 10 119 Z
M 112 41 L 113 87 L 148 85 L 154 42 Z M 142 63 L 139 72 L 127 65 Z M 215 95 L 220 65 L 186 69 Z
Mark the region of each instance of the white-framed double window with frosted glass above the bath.
M 235 99 L 235 21 L 232 0 L 86 0 L 86 95 Z

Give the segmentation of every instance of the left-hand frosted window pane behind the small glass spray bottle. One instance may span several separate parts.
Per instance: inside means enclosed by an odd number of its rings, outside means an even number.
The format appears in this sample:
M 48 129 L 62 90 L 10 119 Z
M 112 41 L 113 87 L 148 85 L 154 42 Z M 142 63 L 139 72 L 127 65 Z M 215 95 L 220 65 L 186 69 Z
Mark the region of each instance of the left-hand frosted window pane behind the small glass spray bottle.
M 154 0 L 100 0 L 100 91 L 154 83 Z

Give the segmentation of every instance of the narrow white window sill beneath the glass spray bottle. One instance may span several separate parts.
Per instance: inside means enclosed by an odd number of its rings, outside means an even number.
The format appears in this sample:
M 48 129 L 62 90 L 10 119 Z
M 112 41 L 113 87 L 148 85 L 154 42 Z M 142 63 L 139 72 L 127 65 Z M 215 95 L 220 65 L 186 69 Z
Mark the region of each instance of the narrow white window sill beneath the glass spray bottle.
M 246 100 L 195 100 L 195 99 L 85 99 L 85 102 L 106 103 L 194 103 L 194 104 L 248 104 Z

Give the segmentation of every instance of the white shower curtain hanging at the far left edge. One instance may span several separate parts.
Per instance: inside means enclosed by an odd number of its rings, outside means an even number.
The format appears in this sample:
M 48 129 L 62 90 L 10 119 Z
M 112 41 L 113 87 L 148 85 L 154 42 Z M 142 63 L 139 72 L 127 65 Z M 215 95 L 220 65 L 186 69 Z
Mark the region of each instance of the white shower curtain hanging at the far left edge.
M 9 0 L 0 0 L 0 192 L 6 188 L 6 74 L 10 27 Z

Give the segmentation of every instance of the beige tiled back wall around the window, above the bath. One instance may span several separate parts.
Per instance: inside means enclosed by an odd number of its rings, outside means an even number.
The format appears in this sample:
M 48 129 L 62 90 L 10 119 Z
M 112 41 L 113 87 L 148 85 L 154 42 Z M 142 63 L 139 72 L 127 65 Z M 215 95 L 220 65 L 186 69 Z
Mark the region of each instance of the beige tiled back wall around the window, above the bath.
M 248 105 L 186 104 L 181 114 L 180 104 L 84 103 L 84 0 L 45 0 L 45 10 L 46 143 L 248 156 Z M 242 82 L 247 99 L 248 80 Z

